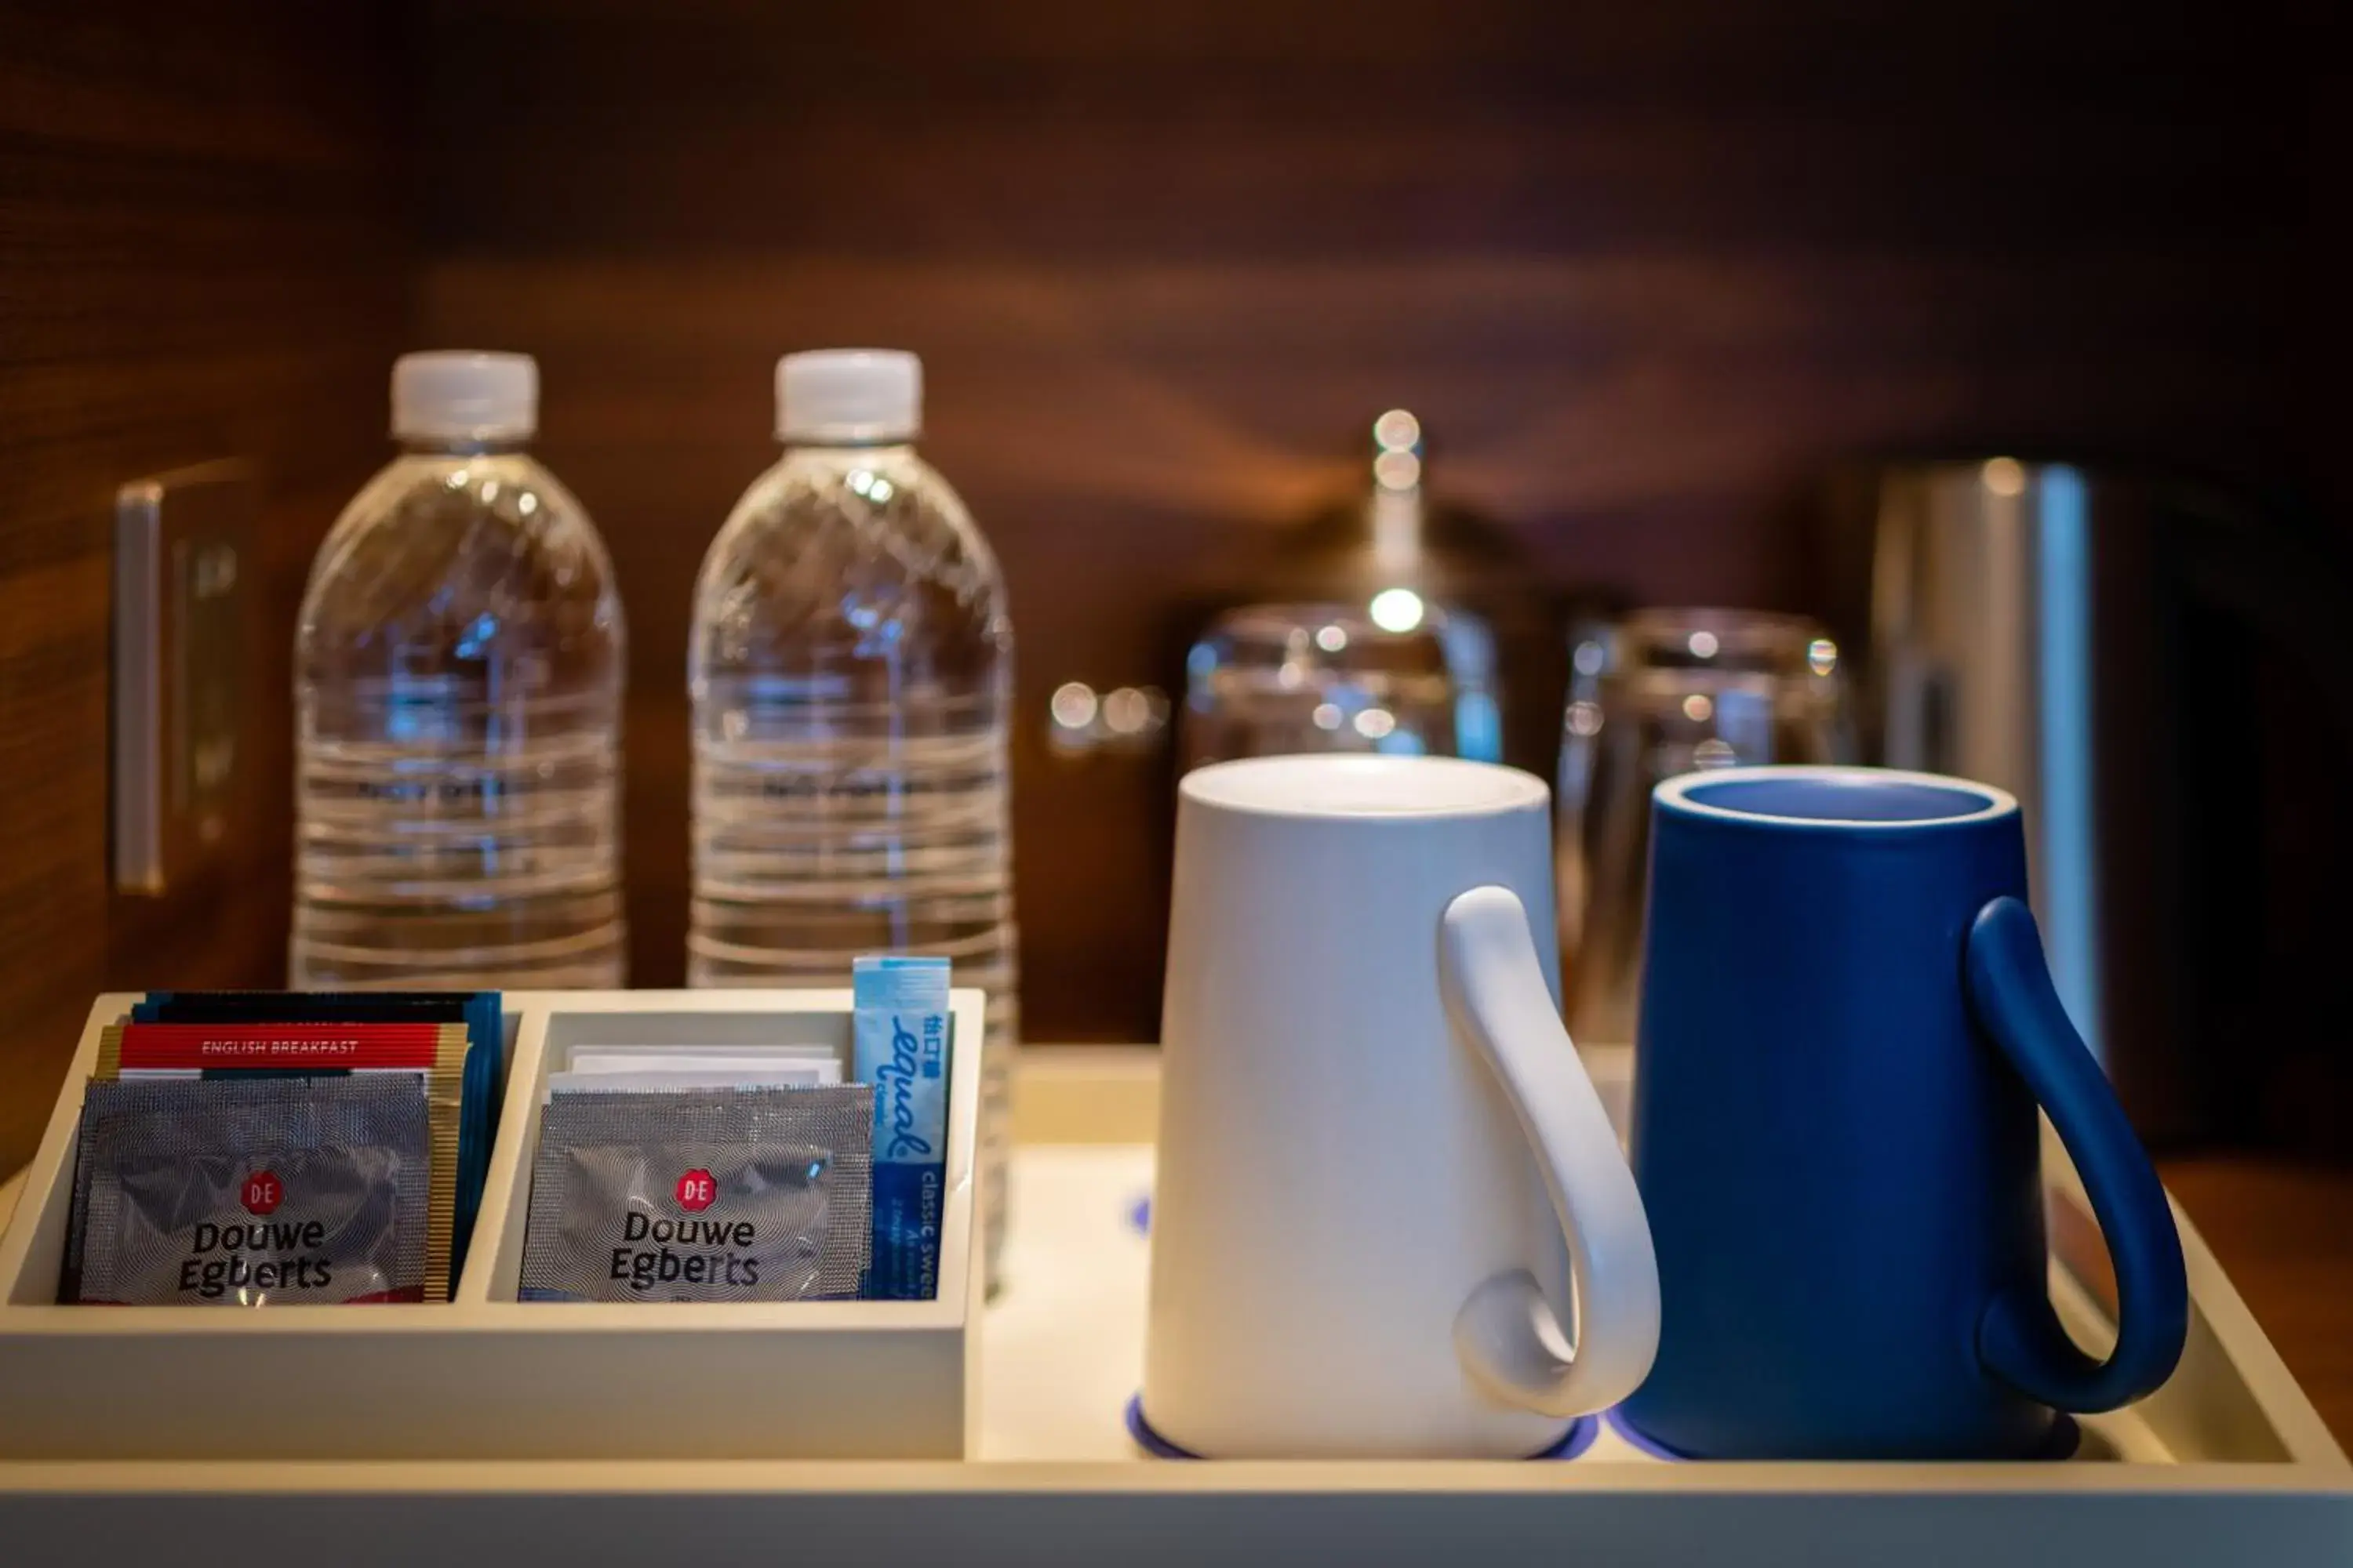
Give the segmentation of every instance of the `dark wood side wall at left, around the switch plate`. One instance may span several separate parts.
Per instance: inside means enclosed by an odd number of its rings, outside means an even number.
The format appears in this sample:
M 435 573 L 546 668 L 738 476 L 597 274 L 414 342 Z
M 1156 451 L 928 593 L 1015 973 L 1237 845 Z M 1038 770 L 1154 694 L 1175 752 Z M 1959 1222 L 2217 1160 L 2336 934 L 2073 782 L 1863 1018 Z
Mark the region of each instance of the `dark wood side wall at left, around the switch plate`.
M 94 992 L 285 976 L 287 661 L 407 310 L 381 5 L 0 5 L 0 1171 Z M 228 870 L 111 896 L 113 494 L 259 463 Z

